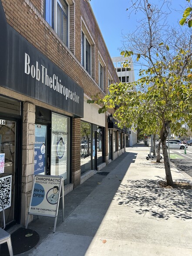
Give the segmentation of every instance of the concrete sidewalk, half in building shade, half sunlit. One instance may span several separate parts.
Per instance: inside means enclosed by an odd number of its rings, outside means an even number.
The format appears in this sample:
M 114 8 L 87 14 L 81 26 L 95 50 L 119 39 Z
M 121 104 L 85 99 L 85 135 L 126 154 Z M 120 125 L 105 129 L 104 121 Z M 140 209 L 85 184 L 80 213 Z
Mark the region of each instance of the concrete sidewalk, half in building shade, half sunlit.
M 24 256 L 190 256 L 192 189 L 163 188 L 164 164 L 137 144 L 64 197 L 64 222 L 34 219 L 40 242 Z M 106 174 L 106 173 L 105 173 Z M 192 178 L 172 168 L 174 181 Z

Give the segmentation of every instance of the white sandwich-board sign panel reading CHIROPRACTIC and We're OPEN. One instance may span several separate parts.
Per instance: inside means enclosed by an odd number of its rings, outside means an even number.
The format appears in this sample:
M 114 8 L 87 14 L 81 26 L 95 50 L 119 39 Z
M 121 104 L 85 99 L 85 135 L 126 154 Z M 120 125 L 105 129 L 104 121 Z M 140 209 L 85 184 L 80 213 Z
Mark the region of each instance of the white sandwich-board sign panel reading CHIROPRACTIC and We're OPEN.
M 56 217 L 61 184 L 61 176 L 34 175 L 34 184 L 28 213 Z

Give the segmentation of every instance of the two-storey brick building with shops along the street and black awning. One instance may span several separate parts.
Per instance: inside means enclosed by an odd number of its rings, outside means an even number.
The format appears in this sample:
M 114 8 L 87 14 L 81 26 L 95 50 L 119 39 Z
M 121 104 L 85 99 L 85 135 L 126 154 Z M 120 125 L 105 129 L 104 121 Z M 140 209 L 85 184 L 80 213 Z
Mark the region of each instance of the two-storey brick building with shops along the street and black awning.
M 87 1 L 0 0 L 0 34 L 0 198 L 24 225 L 34 175 L 62 176 L 66 194 L 125 151 L 87 103 L 118 75 Z

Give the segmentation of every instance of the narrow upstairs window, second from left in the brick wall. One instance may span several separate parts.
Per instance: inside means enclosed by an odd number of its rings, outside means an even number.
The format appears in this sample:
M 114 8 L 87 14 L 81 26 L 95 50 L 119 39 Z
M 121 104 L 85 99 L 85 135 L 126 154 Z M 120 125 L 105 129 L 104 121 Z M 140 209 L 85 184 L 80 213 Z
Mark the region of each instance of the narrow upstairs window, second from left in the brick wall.
M 81 32 L 81 64 L 91 74 L 91 45 L 83 32 Z

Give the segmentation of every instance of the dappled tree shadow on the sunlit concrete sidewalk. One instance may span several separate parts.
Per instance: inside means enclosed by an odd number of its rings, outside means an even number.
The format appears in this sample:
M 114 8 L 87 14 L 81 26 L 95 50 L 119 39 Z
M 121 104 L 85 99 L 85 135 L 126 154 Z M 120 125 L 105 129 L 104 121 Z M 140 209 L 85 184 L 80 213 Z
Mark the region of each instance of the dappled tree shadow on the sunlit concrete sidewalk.
M 186 184 L 187 180 L 175 181 Z M 163 187 L 161 180 L 127 180 L 115 194 L 118 205 L 135 209 L 141 215 L 159 219 L 175 217 L 181 220 L 192 219 L 192 189 L 179 185 L 176 188 Z

